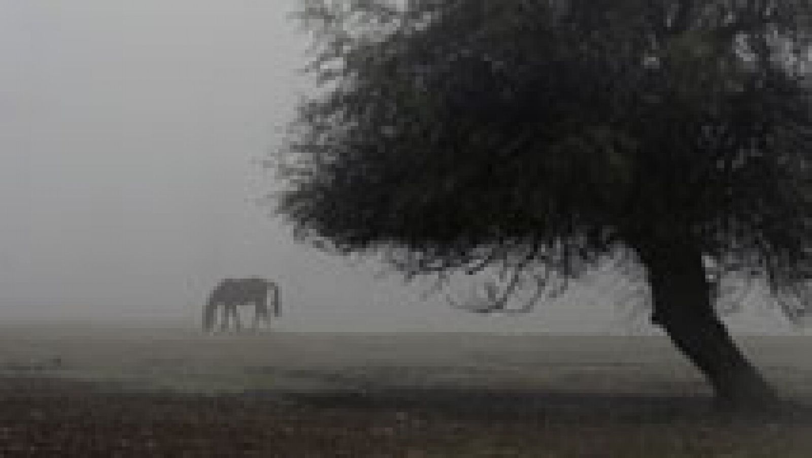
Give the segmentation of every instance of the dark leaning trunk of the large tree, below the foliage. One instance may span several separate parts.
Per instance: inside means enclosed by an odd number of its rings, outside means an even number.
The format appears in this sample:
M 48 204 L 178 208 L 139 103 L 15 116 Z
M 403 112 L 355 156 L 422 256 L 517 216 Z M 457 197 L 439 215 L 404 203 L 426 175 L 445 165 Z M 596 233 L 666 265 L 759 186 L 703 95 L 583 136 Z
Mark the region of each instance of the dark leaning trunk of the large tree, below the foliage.
M 692 244 L 640 244 L 635 248 L 648 271 L 652 322 L 702 371 L 719 403 L 740 408 L 777 400 L 719 319 L 700 250 Z

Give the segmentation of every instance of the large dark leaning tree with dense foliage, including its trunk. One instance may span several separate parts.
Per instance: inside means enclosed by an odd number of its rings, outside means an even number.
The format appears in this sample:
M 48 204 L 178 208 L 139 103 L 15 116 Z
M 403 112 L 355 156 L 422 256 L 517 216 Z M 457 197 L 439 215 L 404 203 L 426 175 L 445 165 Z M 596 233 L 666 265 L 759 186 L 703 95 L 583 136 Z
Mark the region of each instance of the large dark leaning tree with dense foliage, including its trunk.
M 410 275 L 497 263 L 511 287 L 638 263 L 719 400 L 775 399 L 704 263 L 779 298 L 810 279 L 809 2 L 307 5 L 324 91 L 279 206 L 301 240 Z

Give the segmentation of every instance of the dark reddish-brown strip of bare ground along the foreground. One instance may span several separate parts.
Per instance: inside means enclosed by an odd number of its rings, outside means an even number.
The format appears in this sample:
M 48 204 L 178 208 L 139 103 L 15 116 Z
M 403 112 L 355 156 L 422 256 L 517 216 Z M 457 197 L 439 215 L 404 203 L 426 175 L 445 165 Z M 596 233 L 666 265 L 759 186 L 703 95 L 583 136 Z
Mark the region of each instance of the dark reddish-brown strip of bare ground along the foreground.
M 178 395 L 0 379 L 0 456 L 812 456 L 808 415 L 702 398 L 389 391 Z

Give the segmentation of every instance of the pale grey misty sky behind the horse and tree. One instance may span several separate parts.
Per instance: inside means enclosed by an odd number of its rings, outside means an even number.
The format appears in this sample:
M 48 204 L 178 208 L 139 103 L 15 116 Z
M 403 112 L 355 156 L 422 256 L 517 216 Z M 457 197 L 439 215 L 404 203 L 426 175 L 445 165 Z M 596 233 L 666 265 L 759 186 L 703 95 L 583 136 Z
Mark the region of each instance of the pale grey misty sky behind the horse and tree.
M 193 325 L 218 279 L 257 274 L 282 287 L 283 329 L 617 330 L 595 292 L 503 318 L 423 301 L 253 203 L 273 183 L 252 161 L 309 90 L 295 6 L 0 0 L 0 320 Z

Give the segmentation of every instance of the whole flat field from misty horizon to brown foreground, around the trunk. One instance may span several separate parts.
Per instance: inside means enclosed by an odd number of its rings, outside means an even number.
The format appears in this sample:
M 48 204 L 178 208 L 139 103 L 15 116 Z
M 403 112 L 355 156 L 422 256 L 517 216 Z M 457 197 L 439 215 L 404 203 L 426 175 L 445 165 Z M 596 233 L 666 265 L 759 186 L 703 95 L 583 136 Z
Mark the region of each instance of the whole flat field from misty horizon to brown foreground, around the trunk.
M 812 339 L 741 344 L 799 405 L 714 414 L 660 337 L 9 326 L 0 456 L 810 456 Z

